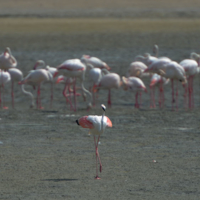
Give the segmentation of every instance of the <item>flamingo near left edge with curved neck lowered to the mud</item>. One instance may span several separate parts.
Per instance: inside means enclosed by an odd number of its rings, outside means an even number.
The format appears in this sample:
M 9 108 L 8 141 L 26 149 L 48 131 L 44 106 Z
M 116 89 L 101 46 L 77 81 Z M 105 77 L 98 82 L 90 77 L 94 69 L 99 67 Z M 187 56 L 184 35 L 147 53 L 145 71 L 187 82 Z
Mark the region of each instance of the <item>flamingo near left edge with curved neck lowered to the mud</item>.
M 14 108 L 14 82 L 19 82 L 23 79 L 23 73 L 21 70 L 19 70 L 18 68 L 10 68 L 8 69 L 8 73 L 11 76 L 11 97 L 12 97 L 12 107 Z M 27 94 L 31 97 L 31 106 L 30 107 L 34 107 L 34 97 L 32 95 L 32 93 L 27 92 L 24 89 L 24 85 L 21 85 L 21 90 L 24 94 Z

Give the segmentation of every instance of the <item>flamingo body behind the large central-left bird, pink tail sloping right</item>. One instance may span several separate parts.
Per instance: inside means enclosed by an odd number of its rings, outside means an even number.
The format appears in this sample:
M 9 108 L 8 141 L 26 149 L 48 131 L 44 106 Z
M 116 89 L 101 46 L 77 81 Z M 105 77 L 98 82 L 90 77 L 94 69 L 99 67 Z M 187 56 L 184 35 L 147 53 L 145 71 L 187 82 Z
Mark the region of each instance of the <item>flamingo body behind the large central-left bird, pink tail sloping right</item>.
M 110 70 L 110 67 L 105 62 L 103 62 L 99 58 L 91 57 L 89 55 L 83 55 L 81 57 L 81 62 L 83 62 L 86 66 L 88 66 L 88 64 L 91 64 L 94 68 Z

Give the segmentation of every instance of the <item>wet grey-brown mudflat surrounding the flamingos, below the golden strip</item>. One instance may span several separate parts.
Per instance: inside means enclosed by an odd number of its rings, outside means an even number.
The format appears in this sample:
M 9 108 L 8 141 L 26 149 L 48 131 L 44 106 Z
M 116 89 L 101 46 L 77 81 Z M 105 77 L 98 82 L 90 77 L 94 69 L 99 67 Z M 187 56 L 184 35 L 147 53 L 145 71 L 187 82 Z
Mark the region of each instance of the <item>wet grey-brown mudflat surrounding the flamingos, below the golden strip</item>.
M 86 26 L 87 31 L 73 33 L 55 29 L 53 33 L 49 29 L 40 32 L 36 25 L 32 34 L 23 30 L 17 34 L 14 30 L 3 32 L 1 51 L 6 46 L 11 48 L 24 75 L 38 59 L 57 66 L 66 59 L 89 54 L 101 58 L 122 76 L 134 57 L 151 53 L 154 44 L 159 45 L 160 56 L 178 62 L 193 51 L 198 53 L 200 30 L 196 23 L 191 21 L 188 25 L 193 26 L 192 31 L 163 30 L 156 24 L 156 31 L 134 31 L 127 25 L 125 31 L 121 27 L 118 31 L 94 31 Z M 148 85 L 149 79 L 144 82 Z M 85 85 L 89 87 L 87 82 Z M 50 108 L 49 85 L 44 85 L 44 109 L 36 110 L 29 108 L 30 99 L 22 95 L 17 85 L 12 109 L 10 85 L 6 86 L 9 109 L 0 111 L 1 199 L 199 199 L 198 76 L 194 110 L 185 110 L 181 84 L 178 111 L 171 109 L 170 84 L 165 87 L 162 110 L 158 106 L 149 108 L 150 93 L 143 94 L 142 108 L 137 110 L 133 94 L 122 89 L 112 91 L 113 106 L 107 116 L 113 128 L 106 130 L 99 145 L 101 180 L 94 180 L 93 137 L 75 120 L 88 114 L 101 115 L 100 104 L 106 105 L 107 91 L 99 92 L 97 106 L 89 112 L 82 97 L 78 97 L 78 111 L 74 113 L 62 97 L 63 87 L 55 86 Z M 26 89 L 33 91 L 29 86 Z

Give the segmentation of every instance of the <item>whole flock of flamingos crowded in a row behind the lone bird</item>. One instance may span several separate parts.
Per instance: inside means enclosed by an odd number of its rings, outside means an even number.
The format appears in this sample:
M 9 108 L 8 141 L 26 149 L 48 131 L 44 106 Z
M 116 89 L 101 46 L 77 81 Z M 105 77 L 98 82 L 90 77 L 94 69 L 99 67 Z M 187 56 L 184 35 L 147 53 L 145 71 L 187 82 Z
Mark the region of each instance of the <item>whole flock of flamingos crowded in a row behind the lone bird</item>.
M 135 56 L 135 59 L 127 69 L 124 70 L 126 76 L 112 72 L 107 63 L 97 57 L 83 55 L 80 59 L 68 59 L 57 67 L 46 65 L 45 61 L 38 60 L 33 63 L 33 69 L 26 76 L 17 67 L 17 60 L 12 55 L 9 47 L 0 55 L 0 106 L 8 109 L 5 105 L 5 89 L 6 84 L 11 82 L 11 98 L 12 107 L 15 107 L 14 85 L 18 83 L 21 91 L 30 98 L 30 107 L 34 108 L 36 103 L 37 109 L 43 109 L 41 103 L 41 87 L 44 83 L 51 85 L 51 103 L 53 107 L 54 100 L 54 84 L 64 83 L 63 99 L 69 105 L 69 109 L 76 112 L 78 110 L 77 98 L 82 97 L 86 101 L 87 110 L 96 106 L 99 98 L 99 90 L 107 90 L 107 106 L 112 107 L 111 93 L 113 89 L 125 91 L 135 94 L 135 100 L 130 99 L 130 103 L 134 101 L 135 108 L 141 108 L 142 92 L 150 91 L 150 108 L 156 107 L 155 87 L 159 88 L 158 105 L 159 108 L 165 107 L 165 90 L 169 82 L 171 82 L 171 108 L 178 110 L 179 108 L 179 84 L 183 86 L 184 91 L 184 107 L 194 109 L 194 77 L 199 73 L 200 55 L 191 53 L 190 58 L 186 58 L 181 62 L 176 62 L 168 57 L 158 57 L 158 45 L 153 48 L 154 55 L 145 53 Z M 144 80 L 148 87 L 145 86 Z M 86 85 L 90 85 L 89 88 Z M 31 85 L 37 88 L 36 97 L 25 90 L 25 85 Z M 61 84 L 60 84 L 61 85 Z M 165 90 L 164 90 L 165 86 Z M 80 93 L 78 92 L 80 91 Z M 130 95 L 127 93 L 127 96 Z M 106 99 L 106 97 L 104 98 Z

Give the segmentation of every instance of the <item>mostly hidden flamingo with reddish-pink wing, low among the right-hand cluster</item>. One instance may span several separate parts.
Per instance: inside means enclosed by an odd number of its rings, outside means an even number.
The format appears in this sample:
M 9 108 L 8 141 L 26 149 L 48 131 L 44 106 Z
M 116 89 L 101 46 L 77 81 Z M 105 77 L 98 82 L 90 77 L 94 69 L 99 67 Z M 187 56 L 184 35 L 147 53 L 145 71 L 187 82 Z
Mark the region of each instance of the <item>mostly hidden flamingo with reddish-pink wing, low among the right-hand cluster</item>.
M 162 77 L 158 74 L 154 74 L 151 77 L 150 82 L 150 90 L 151 90 L 151 102 L 150 102 L 150 108 L 155 108 L 155 86 L 159 87 L 159 107 L 162 108 L 164 106 L 164 91 L 163 91 L 163 85 L 166 85 L 169 82 L 169 79 L 166 79 L 165 77 Z

